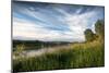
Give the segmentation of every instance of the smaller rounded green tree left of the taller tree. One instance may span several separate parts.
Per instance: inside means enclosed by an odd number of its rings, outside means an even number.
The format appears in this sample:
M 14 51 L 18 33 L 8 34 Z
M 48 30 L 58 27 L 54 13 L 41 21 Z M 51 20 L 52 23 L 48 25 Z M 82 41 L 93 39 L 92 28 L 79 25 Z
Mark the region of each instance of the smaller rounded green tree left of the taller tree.
M 95 34 L 92 32 L 92 29 L 86 29 L 84 34 L 86 41 L 93 41 L 95 39 Z

